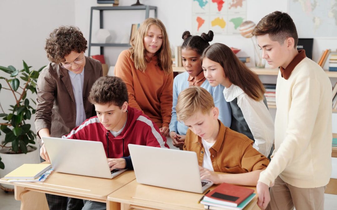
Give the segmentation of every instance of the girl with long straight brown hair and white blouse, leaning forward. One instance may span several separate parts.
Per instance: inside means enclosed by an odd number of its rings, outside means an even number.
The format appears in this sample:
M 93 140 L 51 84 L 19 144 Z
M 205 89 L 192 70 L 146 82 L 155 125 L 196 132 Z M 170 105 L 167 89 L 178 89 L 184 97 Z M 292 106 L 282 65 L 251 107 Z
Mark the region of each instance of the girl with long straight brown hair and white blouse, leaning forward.
M 221 43 L 207 47 L 201 59 L 210 85 L 224 87 L 223 96 L 232 111 L 230 128 L 252 139 L 253 147 L 268 157 L 274 142 L 274 121 L 258 76 Z

